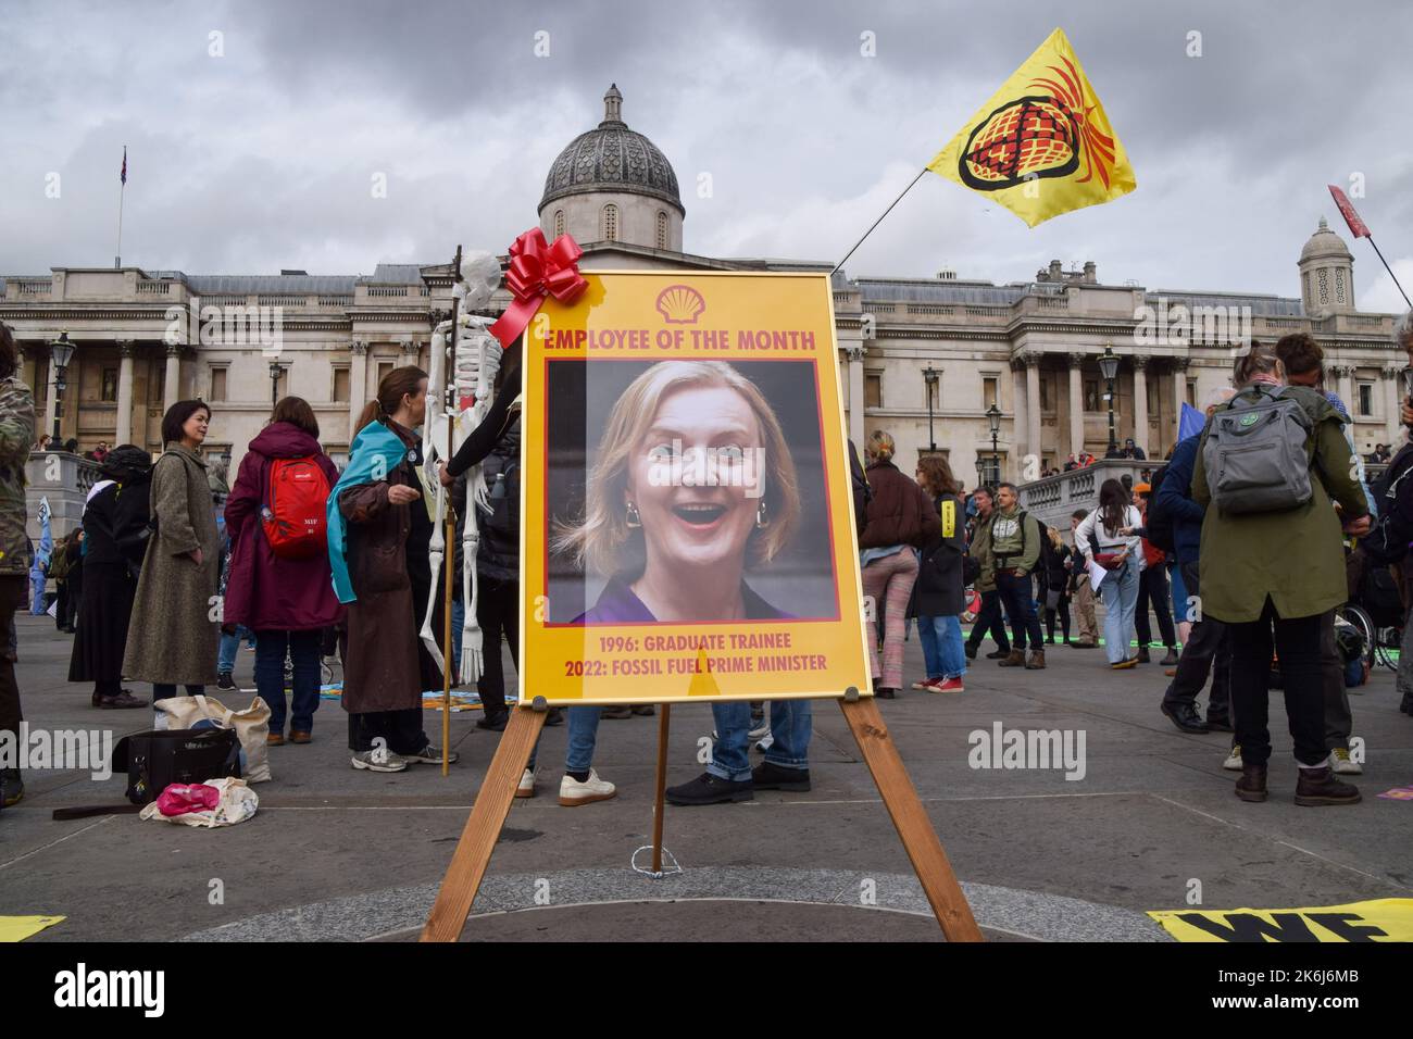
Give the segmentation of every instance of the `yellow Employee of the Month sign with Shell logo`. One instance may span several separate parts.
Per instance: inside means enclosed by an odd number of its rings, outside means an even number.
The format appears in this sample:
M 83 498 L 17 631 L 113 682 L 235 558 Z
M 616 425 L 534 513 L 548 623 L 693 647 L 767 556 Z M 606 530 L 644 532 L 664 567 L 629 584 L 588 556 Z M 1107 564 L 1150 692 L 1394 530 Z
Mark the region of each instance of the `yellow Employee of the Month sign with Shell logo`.
M 585 277 L 526 329 L 526 698 L 868 693 L 828 276 Z

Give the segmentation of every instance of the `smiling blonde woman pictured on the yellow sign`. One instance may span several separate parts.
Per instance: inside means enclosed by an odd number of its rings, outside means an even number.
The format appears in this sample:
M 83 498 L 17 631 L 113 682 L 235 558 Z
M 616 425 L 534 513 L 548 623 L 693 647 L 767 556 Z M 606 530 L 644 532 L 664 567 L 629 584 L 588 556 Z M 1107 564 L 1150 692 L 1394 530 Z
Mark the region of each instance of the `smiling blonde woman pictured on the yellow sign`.
M 577 623 L 791 616 L 747 571 L 791 541 L 796 466 L 755 382 L 721 360 L 664 360 L 613 404 L 584 513 L 552 550 L 606 584 Z

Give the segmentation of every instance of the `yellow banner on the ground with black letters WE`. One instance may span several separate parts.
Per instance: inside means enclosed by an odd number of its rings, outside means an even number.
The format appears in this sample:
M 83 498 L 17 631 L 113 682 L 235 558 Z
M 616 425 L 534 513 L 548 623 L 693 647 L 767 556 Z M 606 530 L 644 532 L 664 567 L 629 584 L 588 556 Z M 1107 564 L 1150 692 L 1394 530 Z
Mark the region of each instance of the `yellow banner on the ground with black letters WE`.
M 1178 941 L 1413 941 L 1413 899 L 1381 898 L 1317 909 L 1150 912 Z

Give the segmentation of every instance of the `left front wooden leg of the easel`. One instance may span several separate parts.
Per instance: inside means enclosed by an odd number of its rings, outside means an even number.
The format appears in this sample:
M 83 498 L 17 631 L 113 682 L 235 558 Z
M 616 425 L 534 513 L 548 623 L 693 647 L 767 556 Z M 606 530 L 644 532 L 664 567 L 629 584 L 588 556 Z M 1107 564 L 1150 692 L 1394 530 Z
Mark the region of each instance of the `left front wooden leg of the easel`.
M 500 746 L 490 759 L 486 779 L 476 793 L 476 803 L 471 807 L 471 817 L 461 831 L 461 840 L 456 841 L 456 851 L 451 857 L 451 865 L 447 867 L 437 902 L 422 927 L 421 941 L 455 941 L 461 937 L 471 915 L 471 905 L 476 900 L 480 881 L 490 864 L 490 854 L 496 850 L 500 827 L 510 814 L 510 803 L 514 800 L 526 762 L 530 761 L 530 751 L 534 749 L 540 729 L 544 728 L 545 715 L 545 711 L 527 707 L 510 711 L 510 724 L 500 735 Z

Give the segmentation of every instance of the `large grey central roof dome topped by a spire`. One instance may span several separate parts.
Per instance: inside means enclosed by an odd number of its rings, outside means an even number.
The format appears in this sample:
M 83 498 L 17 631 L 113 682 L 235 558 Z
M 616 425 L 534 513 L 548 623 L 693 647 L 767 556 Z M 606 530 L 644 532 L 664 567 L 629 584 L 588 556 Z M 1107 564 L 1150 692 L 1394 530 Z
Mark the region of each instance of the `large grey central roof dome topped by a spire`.
M 680 213 L 681 195 L 673 164 L 653 141 L 629 130 L 622 117 L 623 95 L 610 85 L 603 95 L 603 122 L 581 133 L 560 153 L 544 180 L 541 212 L 557 198 L 592 191 L 617 191 L 670 202 Z

